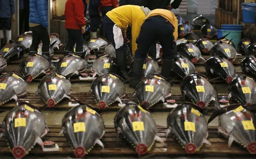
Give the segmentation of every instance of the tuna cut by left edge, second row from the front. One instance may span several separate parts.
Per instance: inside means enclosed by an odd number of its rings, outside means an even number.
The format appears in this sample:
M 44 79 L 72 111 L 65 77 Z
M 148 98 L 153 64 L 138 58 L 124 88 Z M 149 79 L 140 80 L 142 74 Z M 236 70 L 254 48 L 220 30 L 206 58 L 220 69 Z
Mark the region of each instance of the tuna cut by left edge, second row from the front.
M 17 101 L 26 95 L 27 87 L 27 82 L 17 73 L 3 73 L 0 76 L 0 105 L 12 99 Z

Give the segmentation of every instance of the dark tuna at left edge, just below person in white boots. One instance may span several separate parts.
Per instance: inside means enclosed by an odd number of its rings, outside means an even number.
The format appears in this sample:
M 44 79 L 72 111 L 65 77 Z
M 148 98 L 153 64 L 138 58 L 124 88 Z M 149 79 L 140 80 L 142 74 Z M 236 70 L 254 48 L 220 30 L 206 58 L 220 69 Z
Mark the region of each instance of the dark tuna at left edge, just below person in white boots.
M 18 41 L 10 41 L 1 50 L 0 55 L 2 55 L 7 61 L 13 61 L 19 59 L 24 55 L 25 47 Z

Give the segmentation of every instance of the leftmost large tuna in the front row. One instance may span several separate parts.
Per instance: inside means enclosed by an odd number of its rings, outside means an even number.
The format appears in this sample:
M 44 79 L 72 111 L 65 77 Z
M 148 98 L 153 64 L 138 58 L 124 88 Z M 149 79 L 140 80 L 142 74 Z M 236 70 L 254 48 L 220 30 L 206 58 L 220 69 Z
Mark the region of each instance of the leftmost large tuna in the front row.
M 46 119 L 36 107 L 27 102 L 13 108 L 4 118 L 0 138 L 5 136 L 15 159 L 21 159 L 38 143 L 44 147 L 43 137 L 48 132 Z

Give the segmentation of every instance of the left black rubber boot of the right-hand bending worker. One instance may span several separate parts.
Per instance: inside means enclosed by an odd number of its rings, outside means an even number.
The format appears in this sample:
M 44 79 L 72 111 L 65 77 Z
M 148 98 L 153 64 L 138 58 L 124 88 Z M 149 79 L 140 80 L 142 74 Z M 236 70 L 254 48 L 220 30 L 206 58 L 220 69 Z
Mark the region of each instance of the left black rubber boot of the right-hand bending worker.
M 143 60 L 134 59 L 133 61 L 133 80 L 129 83 L 131 88 L 136 88 L 137 84 L 141 80 L 143 70 Z

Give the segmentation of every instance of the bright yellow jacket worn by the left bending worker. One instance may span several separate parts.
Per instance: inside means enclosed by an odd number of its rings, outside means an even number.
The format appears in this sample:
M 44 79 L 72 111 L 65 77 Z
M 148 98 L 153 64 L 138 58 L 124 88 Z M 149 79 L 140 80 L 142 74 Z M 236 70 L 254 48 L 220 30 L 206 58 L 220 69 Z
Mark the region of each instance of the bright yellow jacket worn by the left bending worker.
M 132 52 L 137 50 L 136 39 L 141 31 L 141 25 L 145 20 L 145 13 L 141 6 L 125 5 L 117 7 L 106 14 L 121 30 L 126 32 L 127 27 L 131 27 Z

